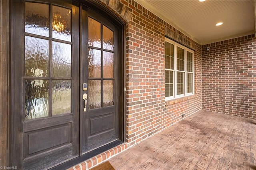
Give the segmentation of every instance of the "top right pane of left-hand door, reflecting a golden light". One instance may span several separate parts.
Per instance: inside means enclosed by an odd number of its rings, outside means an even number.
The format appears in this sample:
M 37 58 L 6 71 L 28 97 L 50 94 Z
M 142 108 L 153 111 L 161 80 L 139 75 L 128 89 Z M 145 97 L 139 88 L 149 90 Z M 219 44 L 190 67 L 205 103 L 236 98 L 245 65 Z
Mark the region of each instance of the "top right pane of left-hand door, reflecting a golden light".
M 52 6 L 52 38 L 71 42 L 71 10 Z

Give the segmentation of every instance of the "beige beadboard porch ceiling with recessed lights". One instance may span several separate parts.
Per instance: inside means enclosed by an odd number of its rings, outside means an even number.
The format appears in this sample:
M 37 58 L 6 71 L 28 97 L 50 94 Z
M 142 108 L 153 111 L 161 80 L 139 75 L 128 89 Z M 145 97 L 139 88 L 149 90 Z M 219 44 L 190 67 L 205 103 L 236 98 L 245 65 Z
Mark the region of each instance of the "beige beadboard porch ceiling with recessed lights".
M 255 0 L 136 0 L 201 45 L 255 34 Z M 223 22 L 221 26 L 215 26 Z

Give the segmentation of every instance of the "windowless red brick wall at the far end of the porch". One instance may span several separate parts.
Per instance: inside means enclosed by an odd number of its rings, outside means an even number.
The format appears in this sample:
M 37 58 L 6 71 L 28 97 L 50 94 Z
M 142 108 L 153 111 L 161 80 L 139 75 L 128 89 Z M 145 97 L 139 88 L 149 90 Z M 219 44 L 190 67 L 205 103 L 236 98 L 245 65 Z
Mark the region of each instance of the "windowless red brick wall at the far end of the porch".
M 256 118 L 256 38 L 253 37 L 202 46 L 202 109 Z

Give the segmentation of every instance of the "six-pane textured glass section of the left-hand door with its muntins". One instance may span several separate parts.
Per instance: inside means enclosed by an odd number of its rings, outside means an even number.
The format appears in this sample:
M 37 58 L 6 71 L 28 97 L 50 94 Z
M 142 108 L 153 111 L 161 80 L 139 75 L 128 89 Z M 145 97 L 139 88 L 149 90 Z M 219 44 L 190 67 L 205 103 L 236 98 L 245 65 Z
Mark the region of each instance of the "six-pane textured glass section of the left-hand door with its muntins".
M 49 17 L 49 8 L 49 4 L 25 2 L 26 120 L 71 113 L 71 10 L 53 5 Z

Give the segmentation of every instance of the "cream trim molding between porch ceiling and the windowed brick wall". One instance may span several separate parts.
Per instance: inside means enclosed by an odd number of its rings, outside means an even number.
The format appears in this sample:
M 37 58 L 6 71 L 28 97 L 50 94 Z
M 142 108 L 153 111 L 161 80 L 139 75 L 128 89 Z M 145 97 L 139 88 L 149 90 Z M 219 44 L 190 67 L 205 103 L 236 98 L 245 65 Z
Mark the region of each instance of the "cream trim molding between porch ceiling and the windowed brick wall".
M 167 18 L 164 14 L 162 14 L 162 12 L 160 12 L 159 10 L 154 8 L 152 5 L 148 4 L 148 2 L 146 2 L 145 0 L 134 0 L 134 1 L 137 2 L 138 4 L 140 4 L 141 6 L 143 6 L 144 8 L 146 8 L 147 10 L 149 10 L 150 12 L 152 12 L 153 14 L 155 14 L 156 16 L 158 16 L 159 18 L 161 18 L 162 20 L 164 20 L 166 23 L 168 23 L 171 26 L 173 26 L 174 28 L 176 28 L 178 31 L 182 32 L 183 34 L 185 34 L 186 36 L 188 36 L 195 42 L 202 45 L 202 42 L 200 42 L 197 38 L 195 38 L 191 34 L 188 34 L 184 29 L 182 29 L 182 27 L 180 27 L 177 24 L 175 24 L 174 22 L 172 22 L 169 18 Z

